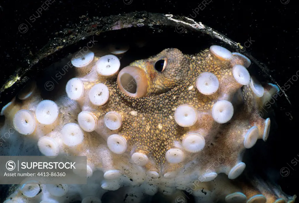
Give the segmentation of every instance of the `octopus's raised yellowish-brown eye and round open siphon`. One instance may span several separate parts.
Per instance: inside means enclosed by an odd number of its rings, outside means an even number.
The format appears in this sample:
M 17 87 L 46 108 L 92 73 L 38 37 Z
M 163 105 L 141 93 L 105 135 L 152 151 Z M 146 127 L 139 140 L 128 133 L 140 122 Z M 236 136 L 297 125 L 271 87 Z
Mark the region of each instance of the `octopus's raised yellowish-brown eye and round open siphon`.
M 187 70 L 187 61 L 179 49 L 164 49 L 124 67 L 118 74 L 118 87 L 131 97 L 158 95 L 179 85 Z

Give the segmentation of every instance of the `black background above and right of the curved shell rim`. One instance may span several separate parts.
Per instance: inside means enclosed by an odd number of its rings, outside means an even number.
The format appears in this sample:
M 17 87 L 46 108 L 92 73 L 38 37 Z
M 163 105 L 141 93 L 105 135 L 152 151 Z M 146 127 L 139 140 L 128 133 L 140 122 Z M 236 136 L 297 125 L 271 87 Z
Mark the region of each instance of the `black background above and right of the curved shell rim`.
M 55 33 L 80 21 L 80 16 L 109 16 L 123 12 L 148 11 L 155 13 L 192 15 L 197 10 L 196 21 L 212 27 L 227 35 L 241 45 L 251 39 L 252 44 L 246 51 L 259 61 L 266 64 L 271 76 L 280 86 L 285 86 L 286 97 L 279 96 L 274 105 L 276 123 L 271 130 L 264 148 L 250 149 L 257 163 L 262 163 L 256 170 L 273 174 L 283 191 L 298 196 L 299 163 L 291 163 L 294 158 L 299 160 L 298 148 L 298 87 L 296 72 L 298 68 L 298 2 L 296 0 L 273 1 L 216 1 L 203 5 L 205 1 L 142 1 L 142 0 L 111 0 L 111 1 L 66 1 L 53 2 L 47 10 L 38 10 L 45 1 L 1 1 L 0 2 L 0 78 L 6 80 L 17 66 L 22 66 L 25 55 L 35 54 Z M 196 9 L 196 8 L 201 9 Z M 30 21 L 33 14 L 38 17 Z M 22 23 L 31 25 L 26 33 L 19 32 Z M 32 27 L 31 27 L 32 26 Z M 175 43 L 176 39 L 169 38 Z M 247 43 L 248 44 L 248 43 Z M 192 46 L 192 45 L 190 45 Z M 299 74 L 298 74 L 299 75 Z M 293 79 L 292 79 L 293 76 Z M 297 79 L 296 79 L 297 78 Z M 2 81 L 3 81 L 2 80 Z M 289 81 L 289 82 L 288 82 Z M 2 83 L 2 82 L 1 82 Z M 287 84 L 286 84 L 287 83 Z M 293 83 L 293 84 L 292 84 Z M 298 156 L 297 156 L 298 154 Z M 288 164 L 290 166 L 288 166 Z M 280 175 L 280 169 L 289 168 L 289 175 Z M 291 168 L 292 167 L 292 168 Z M 285 173 L 283 175 L 286 175 Z

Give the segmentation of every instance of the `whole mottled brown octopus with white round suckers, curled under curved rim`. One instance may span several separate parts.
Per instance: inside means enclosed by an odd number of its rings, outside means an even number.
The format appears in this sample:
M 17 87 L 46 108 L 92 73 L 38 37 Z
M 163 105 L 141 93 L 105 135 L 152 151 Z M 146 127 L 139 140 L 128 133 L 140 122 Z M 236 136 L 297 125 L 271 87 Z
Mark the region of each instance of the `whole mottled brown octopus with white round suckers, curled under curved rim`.
M 9 141 L 26 145 L 30 138 L 45 156 L 87 156 L 87 185 L 36 184 L 42 192 L 29 202 L 101 202 L 118 189 L 132 197 L 124 202 L 158 191 L 175 202 L 182 191 L 196 202 L 295 201 L 261 179 L 232 181 L 245 169 L 244 150 L 267 140 L 270 119 L 260 112 L 279 91 L 250 77 L 247 57 L 216 45 L 196 55 L 171 48 L 119 71 L 118 58 L 103 55 L 69 57 L 76 78 L 52 100 L 33 82 L 2 109 L 1 134 L 15 129 Z M 2 149 L 22 145 L 13 143 Z

